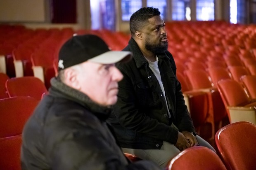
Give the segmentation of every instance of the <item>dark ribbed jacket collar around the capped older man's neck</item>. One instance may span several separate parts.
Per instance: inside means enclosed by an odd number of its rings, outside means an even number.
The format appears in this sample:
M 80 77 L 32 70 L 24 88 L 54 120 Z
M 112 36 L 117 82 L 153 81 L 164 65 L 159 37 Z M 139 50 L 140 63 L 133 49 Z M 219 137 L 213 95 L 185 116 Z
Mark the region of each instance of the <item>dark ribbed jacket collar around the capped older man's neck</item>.
M 78 104 L 82 105 L 90 112 L 92 112 L 92 114 L 95 114 L 98 119 L 106 120 L 109 117 L 111 113 L 110 107 L 103 107 L 101 105 L 98 105 L 97 103 L 93 102 L 87 95 L 67 86 L 56 77 L 53 77 L 51 79 L 51 85 L 52 86 L 49 90 L 50 95 L 66 98 L 68 100 L 77 102 Z

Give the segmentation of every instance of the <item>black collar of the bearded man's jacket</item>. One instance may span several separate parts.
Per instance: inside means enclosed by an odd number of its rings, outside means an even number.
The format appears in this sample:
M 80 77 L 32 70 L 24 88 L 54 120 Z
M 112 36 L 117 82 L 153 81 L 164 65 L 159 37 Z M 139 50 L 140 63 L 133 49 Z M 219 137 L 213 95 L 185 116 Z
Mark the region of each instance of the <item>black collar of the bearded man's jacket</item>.
M 128 44 L 131 47 L 130 51 L 133 53 L 133 58 L 135 60 L 137 68 L 140 68 L 141 66 L 143 66 L 145 64 L 148 64 L 147 60 L 143 56 L 142 52 L 140 51 L 139 46 L 137 45 L 137 43 L 135 42 L 133 37 L 130 38 Z M 162 59 L 169 59 L 168 56 L 165 53 L 156 54 L 156 55 L 157 55 L 160 62 L 161 62 Z

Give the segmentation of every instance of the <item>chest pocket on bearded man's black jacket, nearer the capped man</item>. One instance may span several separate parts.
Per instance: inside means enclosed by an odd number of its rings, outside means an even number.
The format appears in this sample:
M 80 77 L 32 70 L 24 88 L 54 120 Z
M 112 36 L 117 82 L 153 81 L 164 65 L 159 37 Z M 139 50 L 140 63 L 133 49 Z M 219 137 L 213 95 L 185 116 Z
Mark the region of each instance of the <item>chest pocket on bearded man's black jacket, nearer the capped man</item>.
M 154 98 L 152 94 L 152 89 L 149 88 L 144 82 L 135 83 L 135 91 L 137 95 L 137 100 L 141 106 L 152 106 L 154 105 Z

